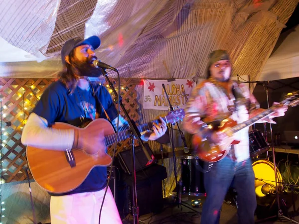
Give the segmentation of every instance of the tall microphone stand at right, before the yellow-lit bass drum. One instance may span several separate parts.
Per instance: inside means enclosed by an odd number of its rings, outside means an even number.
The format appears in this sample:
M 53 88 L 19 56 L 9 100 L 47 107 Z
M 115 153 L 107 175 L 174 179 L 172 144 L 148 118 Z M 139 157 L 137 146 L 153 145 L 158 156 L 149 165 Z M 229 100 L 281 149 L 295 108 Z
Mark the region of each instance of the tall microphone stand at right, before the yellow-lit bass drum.
M 262 83 L 265 90 L 266 90 L 266 95 L 267 95 L 267 104 L 268 104 L 268 108 L 269 108 L 269 96 L 268 96 L 268 83 L 271 82 L 271 81 L 250 81 L 250 82 L 242 82 L 242 83 Z M 283 210 L 281 209 L 281 205 L 280 205 L 280 196 L 279 196 L 279 189 L 278 189 L 278 176 L 277 176 L 277 167 L 276 167 L 276 160 L 275 160 L 275 147 L 274 147 L 274 140 L 273 140 L 273 131 L 272 131 L 272 125 L 271 123 L 270 124 L 270 135 L 271 135 L 271 146 L 272 146 L 272 156 L 273 156 L 273 165 L 274 165 L 274 175 L 275 175 L 275 189 L 276 189 L 276 201 L 277 201 L 277 206 L 278 206 L 278 214 L 277 216 L 273 216 L 273 217 L 268 217 L 266 219 L 263 219 L 264 220 L 267 220 L 267 219 L 272 219 L 274 217 L 278 217 L 278 218 L 285 218 L 285 219 L 288 219 L 290 220 L 291 222 L 294 222 L 294 223 L 297 223 L 299 224 L 298 222 L 296 222 L 295 220 L 292 220 L 291 218 L 287 217 L 287 216 L 284 216 L 283 214 Z M 265 124 L 265 127 L 266 127 L 266 124 Z M 267 151 L 267 158 L 268 158 L 268 151 Z M 268 159 L 269 160 L 269 159 Z

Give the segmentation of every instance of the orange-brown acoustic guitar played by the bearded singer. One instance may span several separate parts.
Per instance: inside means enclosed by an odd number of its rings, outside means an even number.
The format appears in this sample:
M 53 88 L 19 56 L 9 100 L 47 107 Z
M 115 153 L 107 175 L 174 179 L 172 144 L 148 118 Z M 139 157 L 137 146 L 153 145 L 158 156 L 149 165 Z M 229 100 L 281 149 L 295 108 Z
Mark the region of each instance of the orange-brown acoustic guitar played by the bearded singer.
M 181 109 L 168 112 L 163 118 L 166 123 L 176 123 L 181 121 L 185 112 Z M 140 132 L 150 130 L 153 123 L 159 120 L 153 120 L 138 126 Z M 89 127 L 96 125 L 101 128 L 105 136 L 105 145 L 109 146 L 118 141 L 129 137 L 128 130 L 115 133 L 111 123 L 106 119 L 95 119 L 84 128 L 76 127 L 67 123 L 56 122 L 54 129 L 83 129 L 88 131 Z M 26 150 L 28 166 L 31 170 L 34 180 L 39 186 L 52 193 L 66 193 L 77 188 L 96 166 L 109 166 L 112 158 L 106 153 L 104 156 L 93 156 L 85 153 L 83 148 L 66 149 L 57 151 L 27 146 Z

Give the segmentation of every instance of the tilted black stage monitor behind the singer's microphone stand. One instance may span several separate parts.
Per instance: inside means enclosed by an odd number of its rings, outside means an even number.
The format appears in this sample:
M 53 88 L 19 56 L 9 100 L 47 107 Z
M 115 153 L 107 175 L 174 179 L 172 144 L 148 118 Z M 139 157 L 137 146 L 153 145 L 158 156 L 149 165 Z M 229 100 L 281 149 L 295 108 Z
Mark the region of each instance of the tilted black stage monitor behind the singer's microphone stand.
M 140 171 L 141 169 L 156 163 L 153 153 L 149 147 L 149 144 L 145 143 L 145 147 L 146 147 L 147 152 L 149 153 L 149 156 L 151 157 L 152 160 L 149 161 L 147 159 L 147 156 L 141 146 L 135 147 L 135 169 L 136 169 L 136 171 Z M 132 149 L 120 152 L 117 157 L 118 157 L 118 162 L 119 162 L 121 168 L 123 169 L 123 171 L 125 173 L 131 175 L 133 172 Z

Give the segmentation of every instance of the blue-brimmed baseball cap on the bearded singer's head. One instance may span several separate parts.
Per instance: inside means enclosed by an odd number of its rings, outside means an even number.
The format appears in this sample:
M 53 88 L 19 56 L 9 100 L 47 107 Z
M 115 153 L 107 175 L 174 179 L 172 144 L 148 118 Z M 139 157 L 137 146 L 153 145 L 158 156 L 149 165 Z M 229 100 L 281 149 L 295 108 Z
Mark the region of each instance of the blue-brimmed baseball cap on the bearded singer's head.
M 65 65 L 65 56 L 69 55 L 74 48 L 85 44 L 91 45 L 95 50 L 101 45 L 101 40 L 98 36 L 91 36 L 85 40 L 80 37 L 75 37 L 70 40 L 67 40 L 61 49 L 62 64 Z

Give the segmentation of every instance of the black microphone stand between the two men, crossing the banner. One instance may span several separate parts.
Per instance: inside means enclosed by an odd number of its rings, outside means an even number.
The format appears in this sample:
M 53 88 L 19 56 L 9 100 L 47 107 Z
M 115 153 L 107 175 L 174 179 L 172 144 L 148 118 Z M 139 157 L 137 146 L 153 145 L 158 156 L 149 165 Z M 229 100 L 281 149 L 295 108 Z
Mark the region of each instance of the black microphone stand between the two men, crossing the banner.
M 170 111 L 173 111 L 173 107 L 170 103 L 170 100 L 169 100 L 169 97 L 168 97 L 168 94 L 166 92 L 166 89 L 165 89 L 165 85 L 162 84 L 162 87 L 164 89 L 164 92 L 165 92 L 165 95 L 166 95 L 166 98 L 167 98 L 167 101 L 169 103 L 169 110 Z M 196 210 L 192 209 L 191 207 L 187 206 L 187 205 L 184 205 L 182 202 L 181 202 L 181 182 L 177 182 L 177 172 L 176 172 L 176 156 L 175 156 L 175 151 L 174 151 L 174 144 L 173 144 L 173 127 L 172 127 L 172 123 L 169 124 L 170 125 L 170 130 L 169 130 L 169 138 L 170 138 L 170 144 L 171 144 L 171 148 L 172 148 L 172 155 L 173 155 L 173 166 L 174 166 L 174 179 L 175 179 L 175 190 L 176 190 L 176 197 L 175 197 L 175 204 L 177 204 L 177 208 L 179 208 L 179 206 L 183 205 L 185 206 L 186 208 L 190 209 L 190 210 L 193 210 L 194 212 L 197 212 Z M 176 122 L 176 125 L 177 125 L 177 128 L 178 128 L 178 131 L 180 133 L 180 136 L 181 136 L 181 139 L 183 140 L 184 142 L 184 148 L 187 148 L 187 144 L 186 144 L 186 140 L 185 140 L 185 137 L 184 135 L 182 134 L 182 131 L 180 130 L 179 126 L 178 126 L 178 122 Z M 184 150 L 185 151 L 185 150 Z

